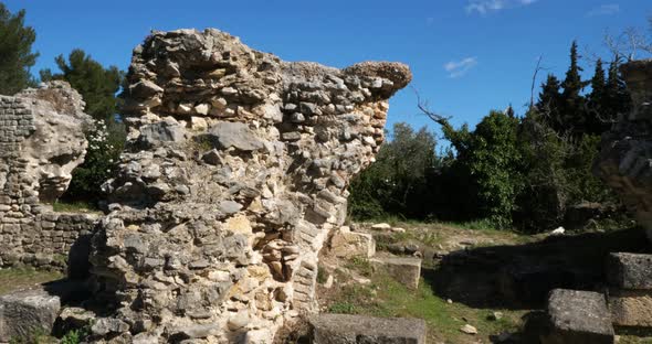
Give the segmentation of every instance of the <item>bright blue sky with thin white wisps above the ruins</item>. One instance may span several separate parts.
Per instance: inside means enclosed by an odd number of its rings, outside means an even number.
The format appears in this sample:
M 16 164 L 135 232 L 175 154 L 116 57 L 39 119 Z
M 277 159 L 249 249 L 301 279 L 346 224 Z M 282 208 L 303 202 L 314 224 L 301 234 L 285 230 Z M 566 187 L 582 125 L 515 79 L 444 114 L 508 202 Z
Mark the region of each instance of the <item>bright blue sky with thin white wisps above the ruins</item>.
M 41 53 L 35 71 L 81 47 L 106 65 L 126 69 L 132 49 L 151 29 L 218 28 L 286 61 L 345 67 L 365 60 L 407 63 L 412 86 L 455 125 L 475 125 L 490 109 L 529 100 L 538 56 L 559 77 L 568 49 L 608 56 L 606 30 L 648 30 L 650 0 L 429 0 L 429 1 L 217 1 L 9 0 L 27 9 Z M 583 61 L 588 74 L 589 61 Z M 545 77 L 540 75 L 539 80 Z M 590 77 L 590 75 L 587 75 Z M 389 125 L 435 129 L 407 88 L 390 101 Z

